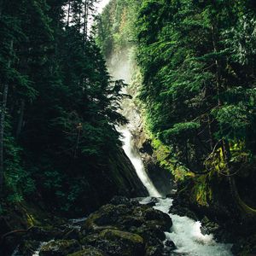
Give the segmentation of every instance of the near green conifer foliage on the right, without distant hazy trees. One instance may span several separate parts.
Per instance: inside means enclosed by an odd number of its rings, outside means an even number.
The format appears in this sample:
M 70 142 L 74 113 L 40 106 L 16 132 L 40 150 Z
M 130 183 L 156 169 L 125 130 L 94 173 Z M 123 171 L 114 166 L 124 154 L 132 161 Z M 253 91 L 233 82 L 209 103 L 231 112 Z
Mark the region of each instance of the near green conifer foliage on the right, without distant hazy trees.
M 254 19 L 240 1 L 143 1 L 139 10 L 148 127 L 192 170 L 203 171 L 219 139 L 254 133 Z

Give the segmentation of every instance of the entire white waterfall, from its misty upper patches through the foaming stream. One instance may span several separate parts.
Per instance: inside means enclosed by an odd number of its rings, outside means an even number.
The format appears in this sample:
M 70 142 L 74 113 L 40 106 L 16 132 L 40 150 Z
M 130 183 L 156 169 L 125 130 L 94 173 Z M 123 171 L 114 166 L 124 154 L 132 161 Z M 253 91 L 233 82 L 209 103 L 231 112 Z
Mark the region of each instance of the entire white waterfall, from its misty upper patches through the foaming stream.
M 110 70 L 110 73 L 113 74 L 113 77 L 116 79 L 124 79 L 126 83 L 130 82 L 131 79 L 131 66 L 129 67 L 129 61 L 125 62 L 124 60 L 121 63 L 122 65 L 114 65 L 116 68 Z M 124 66 L 123 66 L 124 64 Z M 113 72 L 111 72 L 113 71 Z M 161 198 L 159 191 L 154 187 L 154 183 L 148 177 L 143 166 L 143 160 L 138 152 L 138 149 L 135 146 L 135 143 L 132 142 L 132 133 L 131 131 L 136 132 L 136 128 L 139 122 L 139 115 L 134 108 L 135 106 L 132 103 L 124 102 L 123 104 L 123 114 L 130 121 L 129 125 L 126 125 L 123 128 L 120 128 L 119 131 L 122 134 L 122 141 L 124 143 L 123 148 L 125 154 L 131 160 L 132 165 L 135 167 L 137 176 L 141 179 L 143 185 L 148 190 L 149 197 L 141 201 L 142 204 L 148 203 L 151 200 L 151 197 L 157 198 L 157 203 L 155 209 L 160 210 L 161 212 L 166 212 L 169 214 L 169 210 L 172 207 L 171 198 Z M 189 255 L 189 256 L 230 256 L 231 245 L 218 243 L 214 241 L 212 235 L 203 235 L 201 233 L 201 223 L 196 222 L 195 220 L 188 217 L 181 217 L 175 214 L 169 214 L 172 218 L 172 230 L 166 232 L 166 240 L 173 241 L 177 249 L 170 254 L 171 255 Z

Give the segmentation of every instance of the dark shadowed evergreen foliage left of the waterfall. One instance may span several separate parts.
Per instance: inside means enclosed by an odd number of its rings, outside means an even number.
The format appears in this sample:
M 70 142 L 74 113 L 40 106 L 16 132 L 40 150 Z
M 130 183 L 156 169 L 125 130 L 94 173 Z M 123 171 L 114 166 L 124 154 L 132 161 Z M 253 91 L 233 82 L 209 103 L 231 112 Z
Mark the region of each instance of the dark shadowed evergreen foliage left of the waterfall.
M 90 190 L 84 183 L 102 177 L 109 155 L 119 150 L 114 125 L 126 120 L 116 112 L 124 83 L 110 80 L 100 49 L 87 35 L 82 2 L 69 3 L 67 24 L 67 1 L 3 0 L 0 96 L 9 84 L 5 198 L 38 198 L 77 211 Z

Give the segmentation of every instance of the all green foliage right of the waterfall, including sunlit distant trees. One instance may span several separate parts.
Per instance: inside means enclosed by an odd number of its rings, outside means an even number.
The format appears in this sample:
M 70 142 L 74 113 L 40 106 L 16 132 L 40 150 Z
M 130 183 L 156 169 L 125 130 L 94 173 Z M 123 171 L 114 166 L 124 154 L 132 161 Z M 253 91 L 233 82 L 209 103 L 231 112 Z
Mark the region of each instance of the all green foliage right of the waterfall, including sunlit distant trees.
M 131 10 L 132 22 L 122 23 Z M 105 56 L 136 49 L 130 90 L 139 94 L 160 166 L 176 180 L 193 176 L 194 200 L 204 206 L 218 186 L 228 189 L 221 182 L 230 172 L 236 181 L 252 177 L 244 184 L 255 187 L 253 2 L 115 0 L 101 19 L 97 42 Z

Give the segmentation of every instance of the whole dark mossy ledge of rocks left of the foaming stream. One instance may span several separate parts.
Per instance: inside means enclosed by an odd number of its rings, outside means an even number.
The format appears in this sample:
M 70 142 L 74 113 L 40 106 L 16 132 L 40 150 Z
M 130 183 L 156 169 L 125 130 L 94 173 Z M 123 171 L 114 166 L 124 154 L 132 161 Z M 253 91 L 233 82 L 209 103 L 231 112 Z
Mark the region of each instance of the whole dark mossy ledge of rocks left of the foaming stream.
M 21 255 L 160 256 L 173 248 L 164 244 L 172 219 L 138 201 L 115 197 L 86 220 L 52 229 L 33 228 L 20 243 Z M 20 255 L 20 254 L 17 254 Z

